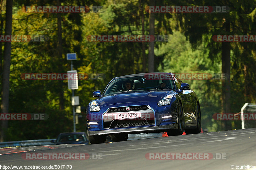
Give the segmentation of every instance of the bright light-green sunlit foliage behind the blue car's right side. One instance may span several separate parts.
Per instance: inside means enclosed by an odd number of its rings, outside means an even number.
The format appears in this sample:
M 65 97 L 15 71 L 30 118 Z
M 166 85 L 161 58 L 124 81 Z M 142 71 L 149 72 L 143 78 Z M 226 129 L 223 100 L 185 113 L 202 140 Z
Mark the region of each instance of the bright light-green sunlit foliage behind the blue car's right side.
M 209 50 L 201 44 L 194 51 L 186 37 L 174 31 L 168 36 L 168 43 L 163 44 L 155 51 L 156 56 L 164 55 L 163 64 L 159 65 L 159 71 L 172 72 L 177 75 L 183 73 L 207 73 L 210 75 L 220 73 L 220 62 L 211 61 L 208 58 Z M 180 77 L 182 80 L 182 77 Z M 182 80 L 190 84 L 190 88 L 196 92 L 199 98 L 202 114 L 202 128 L 216 131 L 212 115 L 220 113 L 220 88 L 221 80 Z

